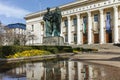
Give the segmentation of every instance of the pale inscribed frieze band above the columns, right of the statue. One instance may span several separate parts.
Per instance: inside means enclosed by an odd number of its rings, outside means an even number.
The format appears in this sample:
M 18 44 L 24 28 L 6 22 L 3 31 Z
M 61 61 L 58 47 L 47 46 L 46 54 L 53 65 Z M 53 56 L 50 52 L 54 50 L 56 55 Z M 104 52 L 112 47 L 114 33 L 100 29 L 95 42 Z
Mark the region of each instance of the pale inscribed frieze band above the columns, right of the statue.
M 120 0 L 107 0 L 107 1 L 102 1 L 102 2 L 96 2 L 92 4 L 87 4 L 85 6 L 80 6 L 77 8 L 69 9 L 66 11 L 62 11 L 62 15 L 71 15 L 74 13 L 83 13 L 86 11 L 92 11 L 95 9 L 100 9 L 100 8 L 107 8 L 107 7 L 112 7 L 114 5 L 120 5 Z

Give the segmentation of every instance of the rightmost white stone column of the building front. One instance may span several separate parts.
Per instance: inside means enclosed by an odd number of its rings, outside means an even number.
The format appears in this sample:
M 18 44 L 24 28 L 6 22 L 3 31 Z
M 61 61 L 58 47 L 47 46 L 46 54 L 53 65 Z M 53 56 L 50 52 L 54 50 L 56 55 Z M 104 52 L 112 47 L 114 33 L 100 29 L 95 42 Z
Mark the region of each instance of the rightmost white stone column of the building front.
M 119 33 L 118 33 L 118 6 L 114 6 L 114 43 L 119 42 Z

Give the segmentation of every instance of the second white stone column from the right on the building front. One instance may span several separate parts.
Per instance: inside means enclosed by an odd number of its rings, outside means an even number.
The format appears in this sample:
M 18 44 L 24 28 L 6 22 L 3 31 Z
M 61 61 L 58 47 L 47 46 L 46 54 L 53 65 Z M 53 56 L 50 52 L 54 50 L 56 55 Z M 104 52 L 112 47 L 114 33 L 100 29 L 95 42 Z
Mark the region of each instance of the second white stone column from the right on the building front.
M 100 44 L 104 43 L 104 14 L 103 9 L 100 9 Z

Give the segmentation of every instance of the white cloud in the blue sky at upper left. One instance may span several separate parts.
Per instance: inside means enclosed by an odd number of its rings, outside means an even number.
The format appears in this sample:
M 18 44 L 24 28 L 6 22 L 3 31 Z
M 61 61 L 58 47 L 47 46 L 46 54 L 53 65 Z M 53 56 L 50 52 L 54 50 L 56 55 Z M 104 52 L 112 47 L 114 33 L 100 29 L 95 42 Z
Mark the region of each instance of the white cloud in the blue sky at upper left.
M 0 15 L 2 16 L 22 19 L 28 13 L 30 12 L 16 6 L 12 6 L 12 4 L 0 3 Z

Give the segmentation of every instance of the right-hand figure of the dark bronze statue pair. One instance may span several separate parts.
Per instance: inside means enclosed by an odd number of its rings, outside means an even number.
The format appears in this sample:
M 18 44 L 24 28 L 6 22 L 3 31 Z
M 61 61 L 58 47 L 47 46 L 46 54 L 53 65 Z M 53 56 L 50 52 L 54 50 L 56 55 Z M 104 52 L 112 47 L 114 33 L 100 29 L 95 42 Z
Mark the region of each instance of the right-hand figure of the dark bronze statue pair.
M 60 36 L 60 32 L 61 32 L 61 18 L 62 18 L 62 15 L 61 15 L 61 10 L 56 7 L 55 9 L 55 12 L 53 13 L 53 33 L 52 35 L 53 36 Z

